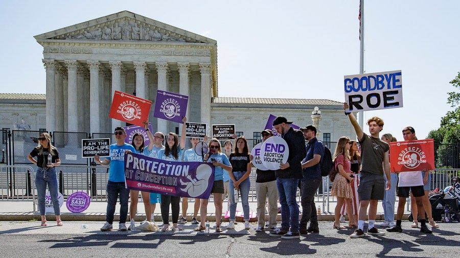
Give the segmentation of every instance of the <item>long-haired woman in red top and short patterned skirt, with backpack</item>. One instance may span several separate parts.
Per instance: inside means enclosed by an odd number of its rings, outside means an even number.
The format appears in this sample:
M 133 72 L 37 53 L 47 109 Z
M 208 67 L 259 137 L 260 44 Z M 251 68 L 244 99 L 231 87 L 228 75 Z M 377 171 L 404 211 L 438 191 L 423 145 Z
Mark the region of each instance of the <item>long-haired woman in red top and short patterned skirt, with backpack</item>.
M 334 182 L 332 183 L 332 196 L 337 196 L 337 205 L 335 206 L 335 221 L 334 228 L 336 229 L 345 229 L 345 227 L 340 225 L 340 208 L 343 205 L 343 202 L 347 204 L 347 214 L 349 215 L 349 227 L 358 227 L 358 224 L 355 222 L 353 217 L 352 209 L 352 198 L 353 191 L 351 184 L 354 183 L 354 176 L 351 171 L 350 163 L 350 148 L 351 142 L 350 138 L 346 136 L 340 137 L 335 148 L 334 153 L 334 166 L 335 169 L 339 172 L 335 176 Z

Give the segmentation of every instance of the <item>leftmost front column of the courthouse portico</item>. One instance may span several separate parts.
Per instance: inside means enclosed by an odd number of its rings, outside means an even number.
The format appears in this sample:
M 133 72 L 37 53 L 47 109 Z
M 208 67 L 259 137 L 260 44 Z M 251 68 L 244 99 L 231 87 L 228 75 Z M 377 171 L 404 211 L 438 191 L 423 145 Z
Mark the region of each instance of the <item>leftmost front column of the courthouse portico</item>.
M 55 100 L 55 67 L 56 62 L 54 59 L 42 59 L 43 66 L 47 71 L 47 90 L 46 90 L 46 105 L 47 105 L 47 131 L 55 131 L 55 112 L 56 112 L 56 100 Z

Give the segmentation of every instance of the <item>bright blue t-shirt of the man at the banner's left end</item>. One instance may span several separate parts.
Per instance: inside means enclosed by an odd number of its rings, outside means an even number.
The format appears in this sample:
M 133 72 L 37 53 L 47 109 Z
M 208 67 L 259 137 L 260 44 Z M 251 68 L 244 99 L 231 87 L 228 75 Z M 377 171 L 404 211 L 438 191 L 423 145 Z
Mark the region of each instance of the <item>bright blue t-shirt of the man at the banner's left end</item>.
M 110 160 L 109 181 L 124 182 L 125 181 L 125 151 L 130 150 L 136 152 L 130 144 L 118 146 L 117 144 L 110 145 Z

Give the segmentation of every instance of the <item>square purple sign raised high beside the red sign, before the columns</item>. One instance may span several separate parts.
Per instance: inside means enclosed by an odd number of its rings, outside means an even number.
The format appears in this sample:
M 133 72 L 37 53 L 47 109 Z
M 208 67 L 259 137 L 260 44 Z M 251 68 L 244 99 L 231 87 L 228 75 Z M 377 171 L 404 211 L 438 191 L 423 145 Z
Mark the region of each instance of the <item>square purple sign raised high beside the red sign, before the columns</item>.
M 156 91 L 155 118 L 182 123 L 182 119 L 187 113 L 187 103 L 189 96 L 180 95 L 164 90 Z

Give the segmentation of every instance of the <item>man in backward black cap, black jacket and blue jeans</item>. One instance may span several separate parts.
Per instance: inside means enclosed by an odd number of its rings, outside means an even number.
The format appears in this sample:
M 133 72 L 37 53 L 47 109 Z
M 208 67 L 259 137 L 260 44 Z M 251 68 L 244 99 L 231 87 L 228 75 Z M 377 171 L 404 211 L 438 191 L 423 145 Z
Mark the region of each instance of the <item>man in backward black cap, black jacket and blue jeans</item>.
M 286 141 L 289 156 L 286 163 L 281 163 L 275 171 L 277 175 L 278 194 L 281 204 L 281 229 L 277 228 L 270 236 L 282 239 L 300 238 L 298 230 L 298 204 L 295 200 L 298 180 L 302 179 L 302 159 L 307 155 L 304 134 L 290 126 L 288 121 L 280 115 L 273 120 L 273 127 Z

